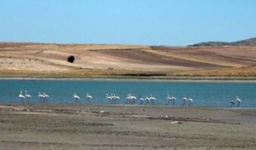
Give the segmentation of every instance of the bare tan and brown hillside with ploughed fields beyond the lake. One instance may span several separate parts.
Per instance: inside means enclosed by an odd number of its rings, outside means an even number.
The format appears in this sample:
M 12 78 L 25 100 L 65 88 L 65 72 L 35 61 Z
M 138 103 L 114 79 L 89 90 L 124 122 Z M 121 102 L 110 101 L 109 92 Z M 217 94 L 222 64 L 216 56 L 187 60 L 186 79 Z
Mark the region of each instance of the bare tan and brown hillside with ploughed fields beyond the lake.
M 248 46 L 0 43 L 1 74 L 255 76 L 255 65 L 256 47 Z

